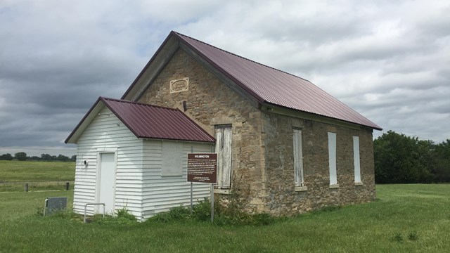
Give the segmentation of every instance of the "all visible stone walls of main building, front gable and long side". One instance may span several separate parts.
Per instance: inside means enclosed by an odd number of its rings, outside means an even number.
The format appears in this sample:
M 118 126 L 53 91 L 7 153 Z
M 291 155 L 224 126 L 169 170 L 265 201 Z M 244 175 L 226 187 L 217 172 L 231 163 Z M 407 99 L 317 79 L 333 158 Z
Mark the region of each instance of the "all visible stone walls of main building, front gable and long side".
M 188 91 L 169 93 L 170 81 L 185 77 L 189 78 Z M 212 136 L 215 125 L 231 124 L 231 188 L 250 212 L 291 215 L 375 199 L 371 129 L 348 129 L 262 112 L 182 49 L 139 102 L 179 108 Z M 302 129 L 306 191 L 295 191 L 293 127 Z M 335 189 L 329 187 L 328 131 L 337 134 L 339 188 Z M 352 136 L 360 138 L 362 186 L 354 185 Z M 219 196 L 226 199 L 231 195 Z

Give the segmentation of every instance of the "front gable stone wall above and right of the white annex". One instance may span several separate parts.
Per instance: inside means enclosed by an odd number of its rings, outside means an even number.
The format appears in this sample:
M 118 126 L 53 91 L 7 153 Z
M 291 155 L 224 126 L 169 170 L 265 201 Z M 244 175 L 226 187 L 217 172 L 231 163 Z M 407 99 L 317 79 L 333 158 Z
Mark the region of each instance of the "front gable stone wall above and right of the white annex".
M 189 78 L 188 91 L 169 93 L 171 80 Z M 262 209 L 264 147 L 261 112 L 224 84 L 184 50 L 179 49 L 139 99 L 169 108 L 179 108 L 214 136 L 214 126 L 232 126 L 232 188 Z M 186 111 L 184 105 L 186 104 Z M 221 195 L 226 197 L 226 195 Z M 219 197 L 219 196 L 218 196 Z

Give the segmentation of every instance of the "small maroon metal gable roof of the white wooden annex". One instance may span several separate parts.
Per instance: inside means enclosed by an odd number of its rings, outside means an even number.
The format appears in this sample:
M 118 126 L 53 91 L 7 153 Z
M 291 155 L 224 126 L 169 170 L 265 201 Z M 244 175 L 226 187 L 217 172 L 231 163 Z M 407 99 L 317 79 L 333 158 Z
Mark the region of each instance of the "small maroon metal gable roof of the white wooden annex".
M 215 142 L 207 131 L 178 109 L 100 97 L 65 143 L 75 143 L 104 106 L 110 109 L 137 138 Z

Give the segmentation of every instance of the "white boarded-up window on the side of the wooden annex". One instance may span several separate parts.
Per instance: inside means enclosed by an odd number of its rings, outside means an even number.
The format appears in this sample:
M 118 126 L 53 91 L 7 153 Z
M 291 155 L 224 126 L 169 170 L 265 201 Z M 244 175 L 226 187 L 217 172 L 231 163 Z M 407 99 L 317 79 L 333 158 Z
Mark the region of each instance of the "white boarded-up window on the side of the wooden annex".
M 183 145 L 162 141 L 161 176 L 183 176 Z

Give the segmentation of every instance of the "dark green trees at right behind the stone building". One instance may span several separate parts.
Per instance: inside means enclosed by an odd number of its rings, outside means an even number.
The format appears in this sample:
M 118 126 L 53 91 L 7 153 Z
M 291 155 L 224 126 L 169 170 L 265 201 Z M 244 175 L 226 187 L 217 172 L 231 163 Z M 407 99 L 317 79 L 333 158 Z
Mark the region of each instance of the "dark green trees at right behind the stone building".
M 373 141 L 375 183 L 449 183 L 450 139 L 419 140 L 395 131 Z

